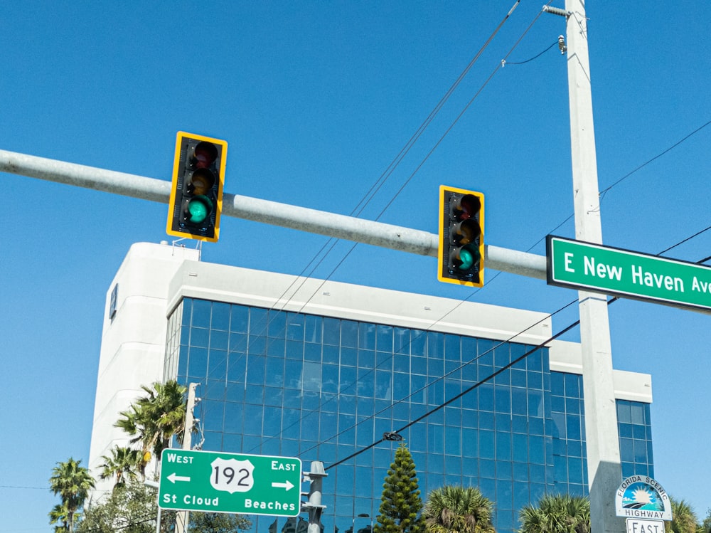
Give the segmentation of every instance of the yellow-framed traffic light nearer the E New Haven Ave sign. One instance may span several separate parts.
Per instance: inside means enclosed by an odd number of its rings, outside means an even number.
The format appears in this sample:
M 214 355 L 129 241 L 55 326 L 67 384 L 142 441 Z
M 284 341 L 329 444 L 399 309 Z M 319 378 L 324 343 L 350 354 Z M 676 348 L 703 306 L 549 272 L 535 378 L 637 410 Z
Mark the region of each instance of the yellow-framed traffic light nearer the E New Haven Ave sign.
M 437 279 L 471 287 L 484 284 L 484 195 L 439 187 Z

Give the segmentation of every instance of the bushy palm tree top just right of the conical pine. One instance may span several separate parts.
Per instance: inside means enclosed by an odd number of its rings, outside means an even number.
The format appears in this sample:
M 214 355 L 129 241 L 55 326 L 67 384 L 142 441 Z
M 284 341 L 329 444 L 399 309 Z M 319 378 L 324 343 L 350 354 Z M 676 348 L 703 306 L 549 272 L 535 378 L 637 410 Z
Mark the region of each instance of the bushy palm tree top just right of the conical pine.
M 478 488 L 445 485 L 429 493 L 422 517 L 430 533 L 496 533 L 492 512 Z

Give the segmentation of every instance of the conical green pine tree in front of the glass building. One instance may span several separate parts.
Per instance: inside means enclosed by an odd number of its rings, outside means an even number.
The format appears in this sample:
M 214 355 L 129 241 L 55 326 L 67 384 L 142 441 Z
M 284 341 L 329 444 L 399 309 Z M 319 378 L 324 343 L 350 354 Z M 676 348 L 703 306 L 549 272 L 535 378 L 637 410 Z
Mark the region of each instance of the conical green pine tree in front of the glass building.
M 405 443 L 400 443 L 383 483 L 375 533 L 424 533 L 419 495 L 415 461 Z

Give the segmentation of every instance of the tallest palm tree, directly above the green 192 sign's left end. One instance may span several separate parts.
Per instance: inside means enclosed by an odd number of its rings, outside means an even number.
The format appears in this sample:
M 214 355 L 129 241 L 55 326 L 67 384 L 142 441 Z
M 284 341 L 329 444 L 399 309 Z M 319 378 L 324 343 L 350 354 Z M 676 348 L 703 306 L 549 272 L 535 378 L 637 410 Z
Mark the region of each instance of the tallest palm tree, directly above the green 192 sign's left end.
M 156 381 L 151 387 L 144 385 L 141 389 L 147 396 L 139 398 L 127 411 L 119 413 L 120 418 L 114 426 L 134 436 L 131 443 L 141 443 L 140 468 L 143 475 L 151 453 L 160 458 L 173 435 L 178 436 L 178 440 L 183 439 L 188 389 L 174 379 L 165 384 Z

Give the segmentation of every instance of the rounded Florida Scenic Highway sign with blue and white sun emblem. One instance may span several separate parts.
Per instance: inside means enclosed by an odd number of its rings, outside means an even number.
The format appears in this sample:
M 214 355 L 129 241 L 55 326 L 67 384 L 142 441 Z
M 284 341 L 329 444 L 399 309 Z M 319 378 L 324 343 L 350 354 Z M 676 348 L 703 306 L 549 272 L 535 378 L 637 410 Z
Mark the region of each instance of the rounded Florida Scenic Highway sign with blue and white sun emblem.
M 646 475 L 631 475 L 615 495 L 617 516 L 671 520 L 671 502 L 663 487 Z

